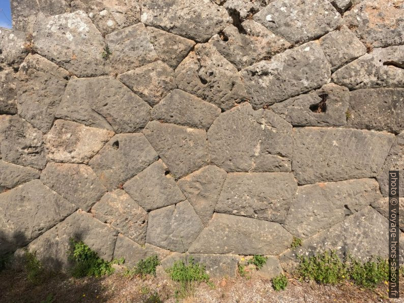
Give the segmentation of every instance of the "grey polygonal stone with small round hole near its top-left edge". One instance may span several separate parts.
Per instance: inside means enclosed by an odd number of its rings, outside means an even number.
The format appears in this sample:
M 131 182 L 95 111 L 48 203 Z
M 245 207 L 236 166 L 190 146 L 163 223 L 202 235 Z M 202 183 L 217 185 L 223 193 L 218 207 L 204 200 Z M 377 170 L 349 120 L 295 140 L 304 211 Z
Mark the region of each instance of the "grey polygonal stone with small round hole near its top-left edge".
M 114 136 L 89 162 L 108 191 L 141 172 L 158 155 L 141 133 Z

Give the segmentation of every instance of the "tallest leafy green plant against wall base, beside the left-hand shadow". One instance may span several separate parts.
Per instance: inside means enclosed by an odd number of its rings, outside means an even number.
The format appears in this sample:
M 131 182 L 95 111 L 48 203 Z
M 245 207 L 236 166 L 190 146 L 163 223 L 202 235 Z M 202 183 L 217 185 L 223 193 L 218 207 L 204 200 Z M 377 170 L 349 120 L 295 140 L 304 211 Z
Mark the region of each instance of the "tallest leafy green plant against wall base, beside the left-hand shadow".
M 74 263 L 71 274 L 75 278 L 110 275 L 115 271 L 112 264 L 122 264 L 125 261 L 121 258 L 107 262 L 98 257 L 97 253 L 82 241 L 70 239 L 70 243 L 69 260 Z

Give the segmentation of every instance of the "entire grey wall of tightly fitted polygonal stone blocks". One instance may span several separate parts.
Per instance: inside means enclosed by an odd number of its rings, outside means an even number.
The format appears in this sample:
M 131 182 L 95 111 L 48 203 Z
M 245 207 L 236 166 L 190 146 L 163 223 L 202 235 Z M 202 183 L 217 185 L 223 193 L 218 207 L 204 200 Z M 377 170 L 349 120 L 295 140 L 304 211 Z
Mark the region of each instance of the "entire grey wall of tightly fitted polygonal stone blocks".
M 75 237 L 214 276 L 243 255 L 269 276 L 297 253 L 387 256 L 402 4 L 48 3 L 12 0 L 0 29 L 0 254 L 63 269 Z

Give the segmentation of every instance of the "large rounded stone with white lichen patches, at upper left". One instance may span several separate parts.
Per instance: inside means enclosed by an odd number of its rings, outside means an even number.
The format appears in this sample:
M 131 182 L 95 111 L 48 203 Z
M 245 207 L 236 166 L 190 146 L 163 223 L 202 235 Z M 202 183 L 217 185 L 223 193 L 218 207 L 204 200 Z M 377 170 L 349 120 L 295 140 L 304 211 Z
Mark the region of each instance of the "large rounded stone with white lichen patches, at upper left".
M 104 39 L 83 11 L 41 20 L 36 23 L 33 35 L 39 54 L 79 77 L 109 71 L 101 56 Z

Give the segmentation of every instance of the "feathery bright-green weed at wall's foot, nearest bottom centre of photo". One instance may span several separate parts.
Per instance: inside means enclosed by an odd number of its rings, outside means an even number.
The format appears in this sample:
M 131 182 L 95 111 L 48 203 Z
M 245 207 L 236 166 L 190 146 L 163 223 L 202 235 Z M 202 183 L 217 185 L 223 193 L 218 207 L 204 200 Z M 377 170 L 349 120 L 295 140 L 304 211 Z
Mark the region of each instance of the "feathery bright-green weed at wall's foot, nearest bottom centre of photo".
M 166 272 L 172 281 L 180 284 L 180 289 L 176 291 L 176 294 L 181 298 L 193 295 L 195 286 L 201 282 L 213 287 L 213 283 L 205 271 L 205 266 L 195 263 L 192 257 L 189 258 L 189 261 L 176 261 L 172 267 L 166 268 Z

